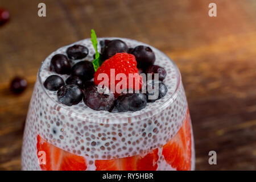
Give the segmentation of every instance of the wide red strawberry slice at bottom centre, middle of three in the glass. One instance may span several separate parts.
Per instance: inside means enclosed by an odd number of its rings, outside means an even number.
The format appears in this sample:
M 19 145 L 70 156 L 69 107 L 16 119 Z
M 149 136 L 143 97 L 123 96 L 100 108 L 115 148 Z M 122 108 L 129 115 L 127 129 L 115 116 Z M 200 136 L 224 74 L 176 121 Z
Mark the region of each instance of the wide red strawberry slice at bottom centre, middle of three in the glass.
M 95 160 L 96 171 L 156 171 L 158 168 L 158 148 L 145 156 Z

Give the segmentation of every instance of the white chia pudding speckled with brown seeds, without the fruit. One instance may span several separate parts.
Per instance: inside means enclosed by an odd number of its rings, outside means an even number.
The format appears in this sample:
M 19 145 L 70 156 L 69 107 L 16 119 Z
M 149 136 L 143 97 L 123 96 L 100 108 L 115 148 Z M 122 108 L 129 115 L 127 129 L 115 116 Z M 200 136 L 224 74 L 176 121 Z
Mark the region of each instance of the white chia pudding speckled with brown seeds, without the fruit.
M 152 46 L 126 38 L 98 38 L 98 41 L 104 39 L 120 39 L 129 48 L 139 45 L 150 47 L 155 53 L 155 64 L 167 72 L 163 80 L 168 88 L 166 96 L 155 102 L 148 102 L 142 110 L 121 113 L 93 110 L 83 101 L 72 106 L 61 104 L 57 99 L 57 91 L 47 90 L 43 85 L 48 76 L 56 75 L 49 69 L 52 57 L 57 53 L 65 55 L 67 48 L 75 44 L 89 50 L 85 59 L 81 60 L 93 61 L 95 51 L 90 39 L 57 49 L 43 61 L 35 82 L 23 136 L 23 170 L 42 169 L 38 162 L 38 135 L 55 147 L 84 158 L 86 170 L 97 169 L 98 161 L 133 156 L 143 158 L 156 150 L 156 170 L 179 170 L 179 167 L 168 163 L 163 155 L 164 145 L 177 135 L 181 126 L 186 121 L 191 125 L 179 70 L 167 55 Z M 98 45 L 98 49 L 100 48 Z M 71 64 L 81 60 L 72 60 Z M 59 76 L 64 81 L 68 78 L 68 75 Z M 195 169 L 192 126 L 189 129 L 189 169 Z

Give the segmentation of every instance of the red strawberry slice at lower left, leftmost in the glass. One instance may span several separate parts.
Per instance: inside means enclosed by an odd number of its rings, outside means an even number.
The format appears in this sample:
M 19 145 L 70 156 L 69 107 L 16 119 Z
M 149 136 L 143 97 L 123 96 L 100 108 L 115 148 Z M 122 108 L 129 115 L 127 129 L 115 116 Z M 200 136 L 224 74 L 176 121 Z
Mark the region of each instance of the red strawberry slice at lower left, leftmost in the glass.
M 87 168 L 84 158 L 53 146 L 40 135 L 36 148 L 38 152 L 46 152 L 46 164 L 40 164 L 43 171 L 85 171 Z M 38 155 L 38 158 L 40 157 L 41 155 Z

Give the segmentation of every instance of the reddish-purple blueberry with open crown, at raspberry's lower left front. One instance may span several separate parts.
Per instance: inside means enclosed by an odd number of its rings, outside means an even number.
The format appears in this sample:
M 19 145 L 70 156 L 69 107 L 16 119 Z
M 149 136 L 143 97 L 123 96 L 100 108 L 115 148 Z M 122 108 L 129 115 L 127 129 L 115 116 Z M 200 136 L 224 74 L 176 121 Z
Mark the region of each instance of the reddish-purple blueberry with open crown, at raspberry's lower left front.
M 108 88 L 98 90 L 97 85 L 90 86 L 84 92 L 84 103 L 93 110 L 110 110 L 114 100 L 114 94 Z

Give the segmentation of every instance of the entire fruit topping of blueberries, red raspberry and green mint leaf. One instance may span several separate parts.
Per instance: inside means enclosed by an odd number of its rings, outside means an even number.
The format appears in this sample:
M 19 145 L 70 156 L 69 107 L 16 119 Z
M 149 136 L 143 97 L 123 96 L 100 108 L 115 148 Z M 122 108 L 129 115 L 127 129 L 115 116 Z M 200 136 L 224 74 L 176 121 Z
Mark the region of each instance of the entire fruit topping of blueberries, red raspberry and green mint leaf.
M 71 67 L 69 59 L 83 59 L 89 53 L 88 48 L 79 44 L 67 48 L 68 57 L 63 54 L 52 57 L 51 71 L 71 74 L 65 82 L 58 75 L 49 76 L 44 82 L 48 90 L 57 90 L 59 102 L 72 106 L 84 97 L 84 103 L 91 109 L 124 112 L 142 110 L 147 102 L 155 102 L 166 95 L 167 87 L 162 81 L 167 73 L 164 68 L 154 65 L 155 53 L 150 47 L 128 48 L 122 40 L 105 39 L 100 41 L 100 54 L 93 29 L 90 40 L 95 50 L 92 62 L 83 60 Z M 142 89 L 141 73 L 152 75 L 153 80 L 144 84 L 147 89 Z M 158 80 L 155 74 L 158 74 Z

